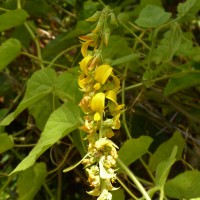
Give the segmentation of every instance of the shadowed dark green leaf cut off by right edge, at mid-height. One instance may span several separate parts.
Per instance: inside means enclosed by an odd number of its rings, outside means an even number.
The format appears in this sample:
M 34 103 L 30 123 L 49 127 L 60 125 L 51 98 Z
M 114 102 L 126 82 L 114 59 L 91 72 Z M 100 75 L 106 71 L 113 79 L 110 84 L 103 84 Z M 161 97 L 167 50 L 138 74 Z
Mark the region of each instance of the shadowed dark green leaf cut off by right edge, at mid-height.
M 164 95 L 169 96 L 180 90 L 199 85 L 200 73 L 188 73 L 177 78 L 170 78 L 165 89 Z

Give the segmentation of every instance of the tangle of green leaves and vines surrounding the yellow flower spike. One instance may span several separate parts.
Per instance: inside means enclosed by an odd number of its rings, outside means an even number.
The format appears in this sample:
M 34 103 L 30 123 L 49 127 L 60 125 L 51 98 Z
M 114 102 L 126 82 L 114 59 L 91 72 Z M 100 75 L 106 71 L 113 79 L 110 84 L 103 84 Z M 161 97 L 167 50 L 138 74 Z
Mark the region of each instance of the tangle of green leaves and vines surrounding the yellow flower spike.
M 126 110 L 113 200 L 200 197 L 200 1 L 0 1 L 0 200 L 95 199 L 78 107 L 85 19 L 117 17 L 104 59 Z M 63 169 L 73 169 L 63 173 Z M 126 166 L 129 166 L 127 171 Z M 136 184 L 137 185 L 137 184 Z

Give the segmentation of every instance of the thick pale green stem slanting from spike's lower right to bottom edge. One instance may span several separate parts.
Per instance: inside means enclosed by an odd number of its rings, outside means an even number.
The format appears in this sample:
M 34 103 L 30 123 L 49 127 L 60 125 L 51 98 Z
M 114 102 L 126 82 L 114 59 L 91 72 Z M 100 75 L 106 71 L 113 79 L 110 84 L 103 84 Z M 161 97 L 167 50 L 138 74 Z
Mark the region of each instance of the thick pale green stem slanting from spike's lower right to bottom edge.
M 137 186 L 138 190 L 142 193 L 142 195 L 144 196 L 144 198 L 146 200 L 151 200 L 151 198 L 149 197 L 148 193 L 146 192 L 146 190 L 144 189 L 144 187 L 142 186 L 142 184 L 138 181 L 138 179 L 130 171 L 130 169 L 119 158 L 117 158 L 117 163 L 126 172 L 126 174 L 130 177 L 130 179 L 135 183 L 135 185 Z

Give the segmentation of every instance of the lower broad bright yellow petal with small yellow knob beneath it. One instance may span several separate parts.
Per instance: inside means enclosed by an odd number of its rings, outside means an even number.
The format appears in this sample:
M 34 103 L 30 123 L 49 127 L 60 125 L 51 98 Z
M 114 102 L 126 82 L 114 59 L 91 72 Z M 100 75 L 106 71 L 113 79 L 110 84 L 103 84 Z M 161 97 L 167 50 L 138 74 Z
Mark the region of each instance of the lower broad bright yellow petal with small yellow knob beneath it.
M 92 111 L 94 114 L 94 121 L 99 121 L 102 118 L 102 114 L 105 108 L 105 94 L 100 92 L 93 96 L 91 105 Z

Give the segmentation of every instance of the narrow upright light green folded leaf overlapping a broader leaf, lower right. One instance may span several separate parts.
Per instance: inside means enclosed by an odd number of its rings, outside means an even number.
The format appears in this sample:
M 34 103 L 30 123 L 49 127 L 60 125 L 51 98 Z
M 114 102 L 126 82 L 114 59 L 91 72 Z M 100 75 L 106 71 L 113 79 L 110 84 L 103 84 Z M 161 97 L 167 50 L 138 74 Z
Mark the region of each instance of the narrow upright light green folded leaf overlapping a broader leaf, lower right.
M 160 186 L 160 187 L 164 186 L 167 180 L 170 168 L 176 161 L 177 150 L 178 150 L 177 146 L 174 146 L 170 157 L 166 161 L 162 161 L 158 165 L 156 169 L 156 177 L 155 177 L 157 186 Z

